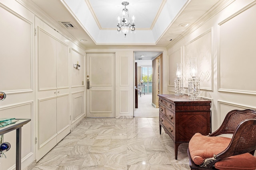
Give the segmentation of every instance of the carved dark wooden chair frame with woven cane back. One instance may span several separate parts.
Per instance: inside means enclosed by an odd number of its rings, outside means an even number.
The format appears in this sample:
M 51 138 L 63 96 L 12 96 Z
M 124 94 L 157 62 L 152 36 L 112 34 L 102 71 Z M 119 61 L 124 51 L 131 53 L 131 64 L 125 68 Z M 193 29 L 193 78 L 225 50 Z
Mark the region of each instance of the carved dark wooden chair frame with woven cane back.
M 238 154 L 250 152 L 254 155 L 256 149 L 256 111 L 245 109 L 228 112 L 220 128 L 210 133 L 209 136 L 221 134 L 234 134 L 228 147 L 212 158 L 206 158 L 200 165 L 196 165 L 192 161 L 188 149 L 191 170 L 215 169 L 215 162 Z

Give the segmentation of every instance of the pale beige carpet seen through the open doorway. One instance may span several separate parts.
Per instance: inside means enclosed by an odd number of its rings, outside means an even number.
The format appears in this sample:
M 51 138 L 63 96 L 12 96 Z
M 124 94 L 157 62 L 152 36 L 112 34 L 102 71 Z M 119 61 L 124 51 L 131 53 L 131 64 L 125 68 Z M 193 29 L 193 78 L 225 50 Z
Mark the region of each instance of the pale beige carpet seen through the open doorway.
M 159 108 L 152 106 L 152 94 L 138 95 L 138 108 L 134 111 L 134 117 L 159 117 Z

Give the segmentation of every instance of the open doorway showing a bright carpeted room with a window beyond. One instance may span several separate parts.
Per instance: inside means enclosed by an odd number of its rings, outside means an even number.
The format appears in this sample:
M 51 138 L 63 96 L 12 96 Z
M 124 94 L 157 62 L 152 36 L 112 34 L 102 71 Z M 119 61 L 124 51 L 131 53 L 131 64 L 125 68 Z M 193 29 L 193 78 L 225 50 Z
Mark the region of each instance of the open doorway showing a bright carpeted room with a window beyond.
M 158 117 L 160 84 L 160 58 L 162 52 L 136 51 L 135 61 L 135 109 L 134 117 Z

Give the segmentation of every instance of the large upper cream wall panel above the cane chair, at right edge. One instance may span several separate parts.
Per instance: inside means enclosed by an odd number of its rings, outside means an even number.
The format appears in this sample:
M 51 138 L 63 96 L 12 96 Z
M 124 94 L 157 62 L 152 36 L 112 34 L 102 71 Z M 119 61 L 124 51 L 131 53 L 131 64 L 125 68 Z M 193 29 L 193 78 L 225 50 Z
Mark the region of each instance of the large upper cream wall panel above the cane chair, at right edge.
M 256 94 L 256 5 L 219 23 L 219 89 Z

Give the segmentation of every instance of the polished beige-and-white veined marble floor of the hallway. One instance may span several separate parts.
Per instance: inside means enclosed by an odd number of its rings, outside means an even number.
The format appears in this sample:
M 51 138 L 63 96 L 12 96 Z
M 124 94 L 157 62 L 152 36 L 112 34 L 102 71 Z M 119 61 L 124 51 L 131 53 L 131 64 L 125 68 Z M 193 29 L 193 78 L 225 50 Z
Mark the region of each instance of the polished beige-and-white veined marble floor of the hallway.
M 178 148 L 158 117 L 86 118 L 33 170 L 189 170 L 187 143 Z

